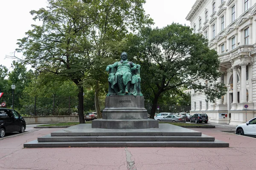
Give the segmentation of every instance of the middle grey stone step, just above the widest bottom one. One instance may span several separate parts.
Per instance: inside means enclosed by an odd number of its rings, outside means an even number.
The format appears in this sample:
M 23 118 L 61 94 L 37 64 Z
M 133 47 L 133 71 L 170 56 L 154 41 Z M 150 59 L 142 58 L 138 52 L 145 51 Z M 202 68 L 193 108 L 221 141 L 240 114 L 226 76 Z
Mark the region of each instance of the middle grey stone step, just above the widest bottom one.
M 214 137 L 202 136 L 42 136 L 38 142 L 122 142 L 122 141 L 211 141 Z

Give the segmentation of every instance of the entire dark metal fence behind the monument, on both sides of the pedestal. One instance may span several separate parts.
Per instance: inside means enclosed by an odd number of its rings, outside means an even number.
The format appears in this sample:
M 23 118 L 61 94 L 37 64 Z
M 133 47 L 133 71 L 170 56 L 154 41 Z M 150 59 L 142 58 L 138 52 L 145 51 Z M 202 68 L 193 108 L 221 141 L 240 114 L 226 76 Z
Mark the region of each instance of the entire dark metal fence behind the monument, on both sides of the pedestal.
M 59 115 L 75 115 L 78 112 L 78 97 L 55 96 L 52 97 L 36 97 L 28 94 L 14 94 L 14 109 L 23 116 L 59 116 Z M 88 102 L 88 100 L 92 100 Z M 0 98 L 1 103 L 6 104 L 6 108 L 12 108 L 12 94 L 4 93 Z M 90 103 L 90 104 L 88 104 Z M 84 99 L 84 110 L 94 110 L 94 99 Z M 101 103 L 101 108 L 104 108 Z M 145 108 L 148 113 L 151 112 L 152 104 L 145 102 Z M 168 112 L 179 113 L 189 112 L 191 106 L 186 105 L 158 105 L 159 110 L 155 113 Z

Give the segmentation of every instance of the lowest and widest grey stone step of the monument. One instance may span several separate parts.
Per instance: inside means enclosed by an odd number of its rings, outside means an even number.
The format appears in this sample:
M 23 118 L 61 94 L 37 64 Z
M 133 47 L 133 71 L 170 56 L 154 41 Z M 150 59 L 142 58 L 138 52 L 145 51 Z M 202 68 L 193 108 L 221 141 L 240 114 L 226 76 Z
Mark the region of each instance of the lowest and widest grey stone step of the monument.
M 123 141 L 123 142 L 38 142 L 34 140 L 24 147 L 229 147 L 229 143 L 215 140 L 202 141 Z

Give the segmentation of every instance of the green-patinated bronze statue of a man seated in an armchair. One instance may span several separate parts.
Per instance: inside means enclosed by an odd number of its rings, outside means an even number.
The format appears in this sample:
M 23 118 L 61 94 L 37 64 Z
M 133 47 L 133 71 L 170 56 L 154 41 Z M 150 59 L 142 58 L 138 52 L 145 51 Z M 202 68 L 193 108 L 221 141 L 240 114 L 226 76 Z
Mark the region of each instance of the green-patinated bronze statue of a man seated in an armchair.
M 127 60 L 127 53 L 121 54 L 121 61 L 108 65 L 108 94 L 110 95 L 140 95 L 140 65 Z

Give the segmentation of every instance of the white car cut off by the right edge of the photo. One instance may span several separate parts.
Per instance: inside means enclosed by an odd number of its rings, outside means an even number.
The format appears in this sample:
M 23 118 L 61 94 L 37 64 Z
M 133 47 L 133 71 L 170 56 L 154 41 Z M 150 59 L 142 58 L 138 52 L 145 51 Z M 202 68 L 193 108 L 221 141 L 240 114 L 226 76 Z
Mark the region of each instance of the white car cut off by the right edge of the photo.
M 236 134 L 256 136 L 256 117 L 236 127 Z

